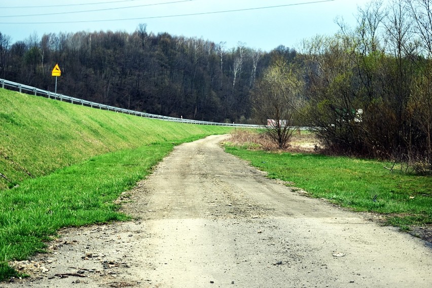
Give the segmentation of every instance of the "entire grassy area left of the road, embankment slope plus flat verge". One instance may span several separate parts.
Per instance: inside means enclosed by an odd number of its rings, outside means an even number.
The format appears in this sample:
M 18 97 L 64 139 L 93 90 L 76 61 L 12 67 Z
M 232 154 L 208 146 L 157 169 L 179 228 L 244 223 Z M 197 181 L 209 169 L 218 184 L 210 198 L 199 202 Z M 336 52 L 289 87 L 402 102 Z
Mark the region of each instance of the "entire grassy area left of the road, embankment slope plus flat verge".
M 61 227 L 125 220 L 113 201 L 174 145 L 230 130 L 0 89 L 0 279 Z

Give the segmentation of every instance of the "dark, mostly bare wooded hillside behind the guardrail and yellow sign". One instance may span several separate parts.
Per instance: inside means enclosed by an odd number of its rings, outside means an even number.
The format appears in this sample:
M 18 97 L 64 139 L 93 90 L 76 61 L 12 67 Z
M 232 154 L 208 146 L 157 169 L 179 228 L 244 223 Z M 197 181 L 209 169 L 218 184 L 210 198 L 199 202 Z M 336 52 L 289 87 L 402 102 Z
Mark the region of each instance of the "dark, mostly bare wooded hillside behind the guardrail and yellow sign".
M 272 55 L 243 43 L 227 48 L 197 38 L 124 31 L 48 33 L 11 43 L 0 32 L 0 77 L 126 109 L 214 122 L 251 123 L 249 91 Z

